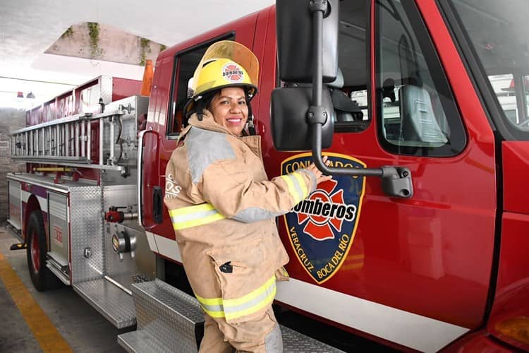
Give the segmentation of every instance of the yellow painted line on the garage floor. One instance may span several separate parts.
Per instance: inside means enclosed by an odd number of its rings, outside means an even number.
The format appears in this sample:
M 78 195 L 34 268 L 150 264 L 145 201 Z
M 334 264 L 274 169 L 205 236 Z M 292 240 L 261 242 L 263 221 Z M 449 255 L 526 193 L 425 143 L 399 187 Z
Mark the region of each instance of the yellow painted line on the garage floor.
M 49 318 L 35 302 L 33 296 L 28 292 L 28 289 L 2 253 L 0 253 L 0 280 L 6 285 L 6 289 L 11 294 L 11 298 L 13 298 L 18 310 L 22 313 L 35 340 L 39 342 L 42 351 L 50 353 L 73 352 L 68 342 L 64 340 L 53 323 L 49 321 Z

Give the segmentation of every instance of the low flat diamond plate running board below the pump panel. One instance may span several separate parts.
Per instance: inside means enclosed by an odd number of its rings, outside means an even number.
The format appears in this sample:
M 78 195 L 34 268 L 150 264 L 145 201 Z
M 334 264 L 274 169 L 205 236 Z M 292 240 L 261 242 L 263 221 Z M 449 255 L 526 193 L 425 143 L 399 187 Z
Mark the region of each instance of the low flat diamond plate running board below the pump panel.
M 101 278 L 76 283 L 73 289 L 116 328 L 136 323 L 133 298 L 108 280 Z

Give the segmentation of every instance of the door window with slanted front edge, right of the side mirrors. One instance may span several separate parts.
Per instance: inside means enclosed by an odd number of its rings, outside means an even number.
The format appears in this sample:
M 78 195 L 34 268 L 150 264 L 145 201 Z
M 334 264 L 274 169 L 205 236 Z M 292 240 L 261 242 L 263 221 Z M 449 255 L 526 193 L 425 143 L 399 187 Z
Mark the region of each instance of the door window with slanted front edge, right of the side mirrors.
M 376 2 L 377 121 L 384 148 L 450 156 L 466 134 L 432 41 L 412 1 Z

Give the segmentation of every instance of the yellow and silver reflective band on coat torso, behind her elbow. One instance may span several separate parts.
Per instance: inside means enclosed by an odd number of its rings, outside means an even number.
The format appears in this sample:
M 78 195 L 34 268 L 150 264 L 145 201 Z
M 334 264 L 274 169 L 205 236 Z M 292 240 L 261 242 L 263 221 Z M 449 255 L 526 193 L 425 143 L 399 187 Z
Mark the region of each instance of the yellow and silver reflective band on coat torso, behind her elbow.
M 169 210 L 169 215 L 175 230 L 206 225 L 225 218 L 209 203 Z

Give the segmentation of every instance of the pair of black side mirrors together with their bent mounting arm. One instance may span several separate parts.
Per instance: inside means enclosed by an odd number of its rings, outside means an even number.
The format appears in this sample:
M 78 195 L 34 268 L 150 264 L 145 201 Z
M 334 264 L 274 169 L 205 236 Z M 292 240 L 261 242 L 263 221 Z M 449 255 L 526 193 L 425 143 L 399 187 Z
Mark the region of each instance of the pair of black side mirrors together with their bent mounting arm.
M 410 169 L 328 167 L 322 148 L 332 143 L 334 107 L 324 82 L 337 73 L 339 0 L 276 0 L 279 76 L 309 87 L 277 88 L 272 93 L 272 134 L 278 150 L 312 150 L 324 174 L 380 177 L 389 196 L 411 198 Z M 312 95 L 310 94 L 312 91 Z

